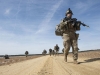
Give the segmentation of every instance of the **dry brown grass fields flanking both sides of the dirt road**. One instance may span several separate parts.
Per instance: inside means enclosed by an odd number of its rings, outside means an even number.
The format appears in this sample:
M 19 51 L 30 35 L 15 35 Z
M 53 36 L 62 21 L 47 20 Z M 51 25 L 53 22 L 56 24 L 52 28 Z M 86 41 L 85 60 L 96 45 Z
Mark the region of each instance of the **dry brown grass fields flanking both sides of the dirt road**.
M 60 55 L 63 56 L 64 54 L 60 54 Z M 29 59 L 34 59 L 34 58 L 38 58 L 41 56 L 42 55 L 35 55 L 35 56 L 28 56 L 28 57 L 12 56 L 12 57 L 10 57 L 10 59 L 4 59 L 4 57 L 0 57 L 0 66 L 8 65 L 8 64 L 16 63 L 16 62 L 21 62 L 21 61 L 25 61 L 25 60 L 29 60 Z M 68 56 L 72 57 L 72 53 L 69 53 Z M 100 58 L 100 50 L 79 52 L 78 57 L 79 58 L 94 58 L 94 59 Z

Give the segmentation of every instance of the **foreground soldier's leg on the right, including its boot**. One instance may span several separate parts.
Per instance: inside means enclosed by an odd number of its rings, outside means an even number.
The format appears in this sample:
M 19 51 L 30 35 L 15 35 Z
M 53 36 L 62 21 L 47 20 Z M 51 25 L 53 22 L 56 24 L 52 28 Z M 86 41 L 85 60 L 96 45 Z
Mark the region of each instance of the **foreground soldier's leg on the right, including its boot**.
M 77 40 L 72 40 L 73 60 L 75 64 L 79 64 L 78 59 L 78 45 Z

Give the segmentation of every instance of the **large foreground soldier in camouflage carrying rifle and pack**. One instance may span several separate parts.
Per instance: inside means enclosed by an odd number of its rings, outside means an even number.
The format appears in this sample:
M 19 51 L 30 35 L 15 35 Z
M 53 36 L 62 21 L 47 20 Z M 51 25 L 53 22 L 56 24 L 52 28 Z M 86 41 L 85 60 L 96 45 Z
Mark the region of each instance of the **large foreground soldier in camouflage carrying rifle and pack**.
M 57 25 L 55 34 L 57 36 L 62 36 L 63 38 L 63 46 L 64 46 L 64 60 L 67 62 L 67 55 L 70 50 L 70 46 L 73 51 L 73 60 L 75 64 L 79 64 L 78 59 L 78 44 L 77 39 L 79 34 L 76 31 L 80 30 L 80 25 L 87 26 L 81 21 L 77 21 L 76 18 L 72 18 L 72 11 L 70 8 L 66 12 L 66 17 L 62 20 L 62 22 Z M 89 26 L 87 26 L 89 27 Z

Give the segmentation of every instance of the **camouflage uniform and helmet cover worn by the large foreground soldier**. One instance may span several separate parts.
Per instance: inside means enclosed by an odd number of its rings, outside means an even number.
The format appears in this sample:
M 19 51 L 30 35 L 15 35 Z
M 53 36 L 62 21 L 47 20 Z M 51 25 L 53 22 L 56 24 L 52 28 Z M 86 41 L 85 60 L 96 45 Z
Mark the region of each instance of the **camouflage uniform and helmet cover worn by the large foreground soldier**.
M 72 11 L 69 9 L 67 13 L 72 13 Z M 72 46 L 73 60 L 74 63 L 77 63 L 77 59 L 78 59 L 77 39 L 78 38 L 76 34 L 76 28 L 73 27 L 73 24 L 68 21 L 69 20 L 67 19 L 67 17 L 65 17 L 63 19 L 63 22 L 60 23 L 60 28 L 63 31 L 62 38 L 63 38 L 63 46 L 64 46 L 64 60 L 65 62 L 67 62 L 67 55 L 70 50 L 70 46 Z

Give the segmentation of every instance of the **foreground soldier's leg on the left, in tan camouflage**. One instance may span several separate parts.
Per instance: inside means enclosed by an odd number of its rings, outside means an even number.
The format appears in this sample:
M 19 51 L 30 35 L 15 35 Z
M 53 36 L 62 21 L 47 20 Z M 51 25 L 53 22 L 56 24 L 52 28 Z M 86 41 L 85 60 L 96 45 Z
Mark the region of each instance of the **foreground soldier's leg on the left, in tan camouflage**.
M 70 40 L 63 41 L 63 45 L 64 45 L 64 60 L 65 62 L 67 62 L 67 55 L 70 50 Z

